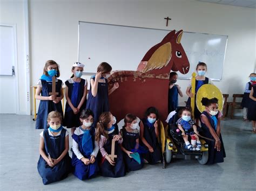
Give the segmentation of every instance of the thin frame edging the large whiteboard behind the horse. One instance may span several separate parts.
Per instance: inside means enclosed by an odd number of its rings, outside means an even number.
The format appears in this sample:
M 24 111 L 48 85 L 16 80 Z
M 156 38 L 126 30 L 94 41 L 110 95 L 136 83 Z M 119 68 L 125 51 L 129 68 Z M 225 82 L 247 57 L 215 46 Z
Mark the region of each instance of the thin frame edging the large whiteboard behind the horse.
M 166 30 L 166 29 L 156 29 L 156 28 L 149 28 L 149 27 L 140 27 L 140 26 L 127 26 L 127 25 L 115 25 L 115 24 L 106 24 L 106 23 L 95 23 L 95 22 L 86 22 L 86 21 L 78 21 L 78 61 L 79 61 L 79 41 L 80 41 L 80 23 L 92 23 L 92 24 L 102 24 L 102 25 L 112 25 L 112 26 L 125 26 L 125 27 L 132 27 L 132 28 L 140 28 L 140 29 L 153 29 L 153 30 L 159 30 L 159 31 L 169 31 L 171 32 L 172 30 Z M 200 32 L 187 32 L 187 31 L 183 31 L 183 32 L 186 32 L 186 33 L 195 33 L 195 34 L 208 34 L 208 33 L 200 33 Z M 223 36 L 223 37 L 226 37 L 228 39 L 228 36 L 226 35 L 222 35 L 222 34 L 208 34 L 208 35 L 218 35 L 218 36 Z M 223 63 L 222 63 L 222 68 L 224 66 L 224 62 L 225 62 L 225 58 L 226 58 L 226 50 L 227 50 L 227 39 L 226 39 L 226 46 L 225 46 L 225 53 L 224 53 L 224 60 L 223 60 Z M 196 69 L 196 68 L 194 68 Z M 86 72 L 83 72 L 84 75 L 95 75 L 96 73 L 86 73 Z M 221 73 L 221 77 L 220 79 L 211 79 L 212 81 L 221 81 L 223 78 L 223 69 L 222 69 L 222 73 Z M 180 80 L 190 80 L 191 77 L 178 77 L 178 79 Z

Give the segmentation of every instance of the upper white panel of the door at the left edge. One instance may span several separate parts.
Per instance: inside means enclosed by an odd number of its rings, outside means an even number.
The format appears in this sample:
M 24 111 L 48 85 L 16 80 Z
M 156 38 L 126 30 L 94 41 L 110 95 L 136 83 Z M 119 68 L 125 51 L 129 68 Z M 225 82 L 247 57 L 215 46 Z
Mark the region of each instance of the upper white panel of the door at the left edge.
M 0 24 L 0 75 L 12 76 L 15 66 L 14 27 Z

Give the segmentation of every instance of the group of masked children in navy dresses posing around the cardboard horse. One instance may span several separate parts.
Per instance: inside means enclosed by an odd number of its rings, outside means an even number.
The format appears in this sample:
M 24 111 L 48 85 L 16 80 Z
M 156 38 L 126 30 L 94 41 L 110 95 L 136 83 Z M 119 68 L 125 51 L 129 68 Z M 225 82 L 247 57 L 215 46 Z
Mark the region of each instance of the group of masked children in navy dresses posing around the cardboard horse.
M 119 87 L 117 82 L 111 89 L 107 87 L 111 66 L 106 62 L 100 63 L 97 74 L 90 79 L 87 99 L 87 81 L 81 78 L 83 68 L 82 63 L 74 63 L 71 69 L 73 74 L 65 82 L 64 117 L 60 103 L 63 98 L 61 80 L 56 79 L 57 95 L 50 94 L 52 76 L 60 75 L 58 64 L 53 60 L 47 61 L 43 75 L 38 81 L 36 98 L 41 102 L 36 129 L 44 129 L 41 133 L 38 172 L 44 184 L 62 180 L 71 171 L 80 180 L 93 178 L 97 174 L 120 177 L 126 172 L 142 168 L 144 163 L 157 164 L 163 160 L 158 142 L 161 124 L 158 110 L 154 107 L 148 108 L 145 118 L 141 121 L 136 116 L 127 114 L 119 131 L 116 118 L 109 112 L 108 95 Z M 205 63 L 199 63 L 197 66 L 196 92 L 203 84 L 212 83 L 204 76 L 206 69 Z M 170 111 L 178 107 L 178 94 L 183 96 L 180 87 L 175 84 L 177 77 L 177 73 L 170 73 Z M 191 85 L 187 88 L 187 95 L 196 96 L 190 93 L 190 89 Z M 199 114 L 195 115 L 195 118 L 201 121 L 202 128 L 205 129 L 204 136 L 215 140 L 209 143 L 208 164 L 223 162 L 225 150 L 220 135 L 221 112 L 218 111 L 218 100 L 204 98 L 202 103 L 206 109 L 202 114 L 198 111 Z M 184 136 L 186 148 L 200 150 L 198 132 L 194 129 L 195 123 L 190 116 L 190 110 L 182 111 L 177 125 Z M 68 154 L 68 131 L 62 125 L 71 128 L 72 159 Z M 195 145 L 188 142 L 188 135 L 197 137 Z

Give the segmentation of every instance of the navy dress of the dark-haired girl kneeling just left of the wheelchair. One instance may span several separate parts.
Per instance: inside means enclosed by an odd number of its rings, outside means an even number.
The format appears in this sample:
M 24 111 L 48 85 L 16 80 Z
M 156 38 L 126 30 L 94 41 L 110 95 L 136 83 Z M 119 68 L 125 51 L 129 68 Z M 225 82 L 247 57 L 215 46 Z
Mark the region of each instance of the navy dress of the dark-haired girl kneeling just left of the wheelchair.
M 150 165 L 157 164 L 158 161 L 161 160 L 161 152 L 160 152 L 160 145 L 158 143 L 158 138 L 156 137 L 156 132 L 154 131 L 153 124 L 151 125 L 147 119 L 142 119 L 144 124 L 144 133 L 143 137 L 146 139 L 147 143 L 153 148 L 154 152 L 146 152 L 142 154 L 142 157 L 149 162 Z M 147 148 L 146 145 L 141 142 L 143 147 Z

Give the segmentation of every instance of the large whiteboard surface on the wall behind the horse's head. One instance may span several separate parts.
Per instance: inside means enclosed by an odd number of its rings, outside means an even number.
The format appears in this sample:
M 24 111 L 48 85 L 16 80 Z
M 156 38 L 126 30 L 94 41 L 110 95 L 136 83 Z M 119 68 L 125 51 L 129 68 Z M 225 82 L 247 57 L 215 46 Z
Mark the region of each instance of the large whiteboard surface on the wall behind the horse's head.
M 85 64 L 85 73 L 96 73 L 101 62 L 112 70 L 136 70 L 146 52 L 170 31 L 142 27 L 79 22 L 78 61 Z M 190 71 L 179 74 L 189 79 L 199 61 L 208 67 L 207 76 L 221 80 L 227 36 L 184 32 L 181 45 L 190 61 Z

